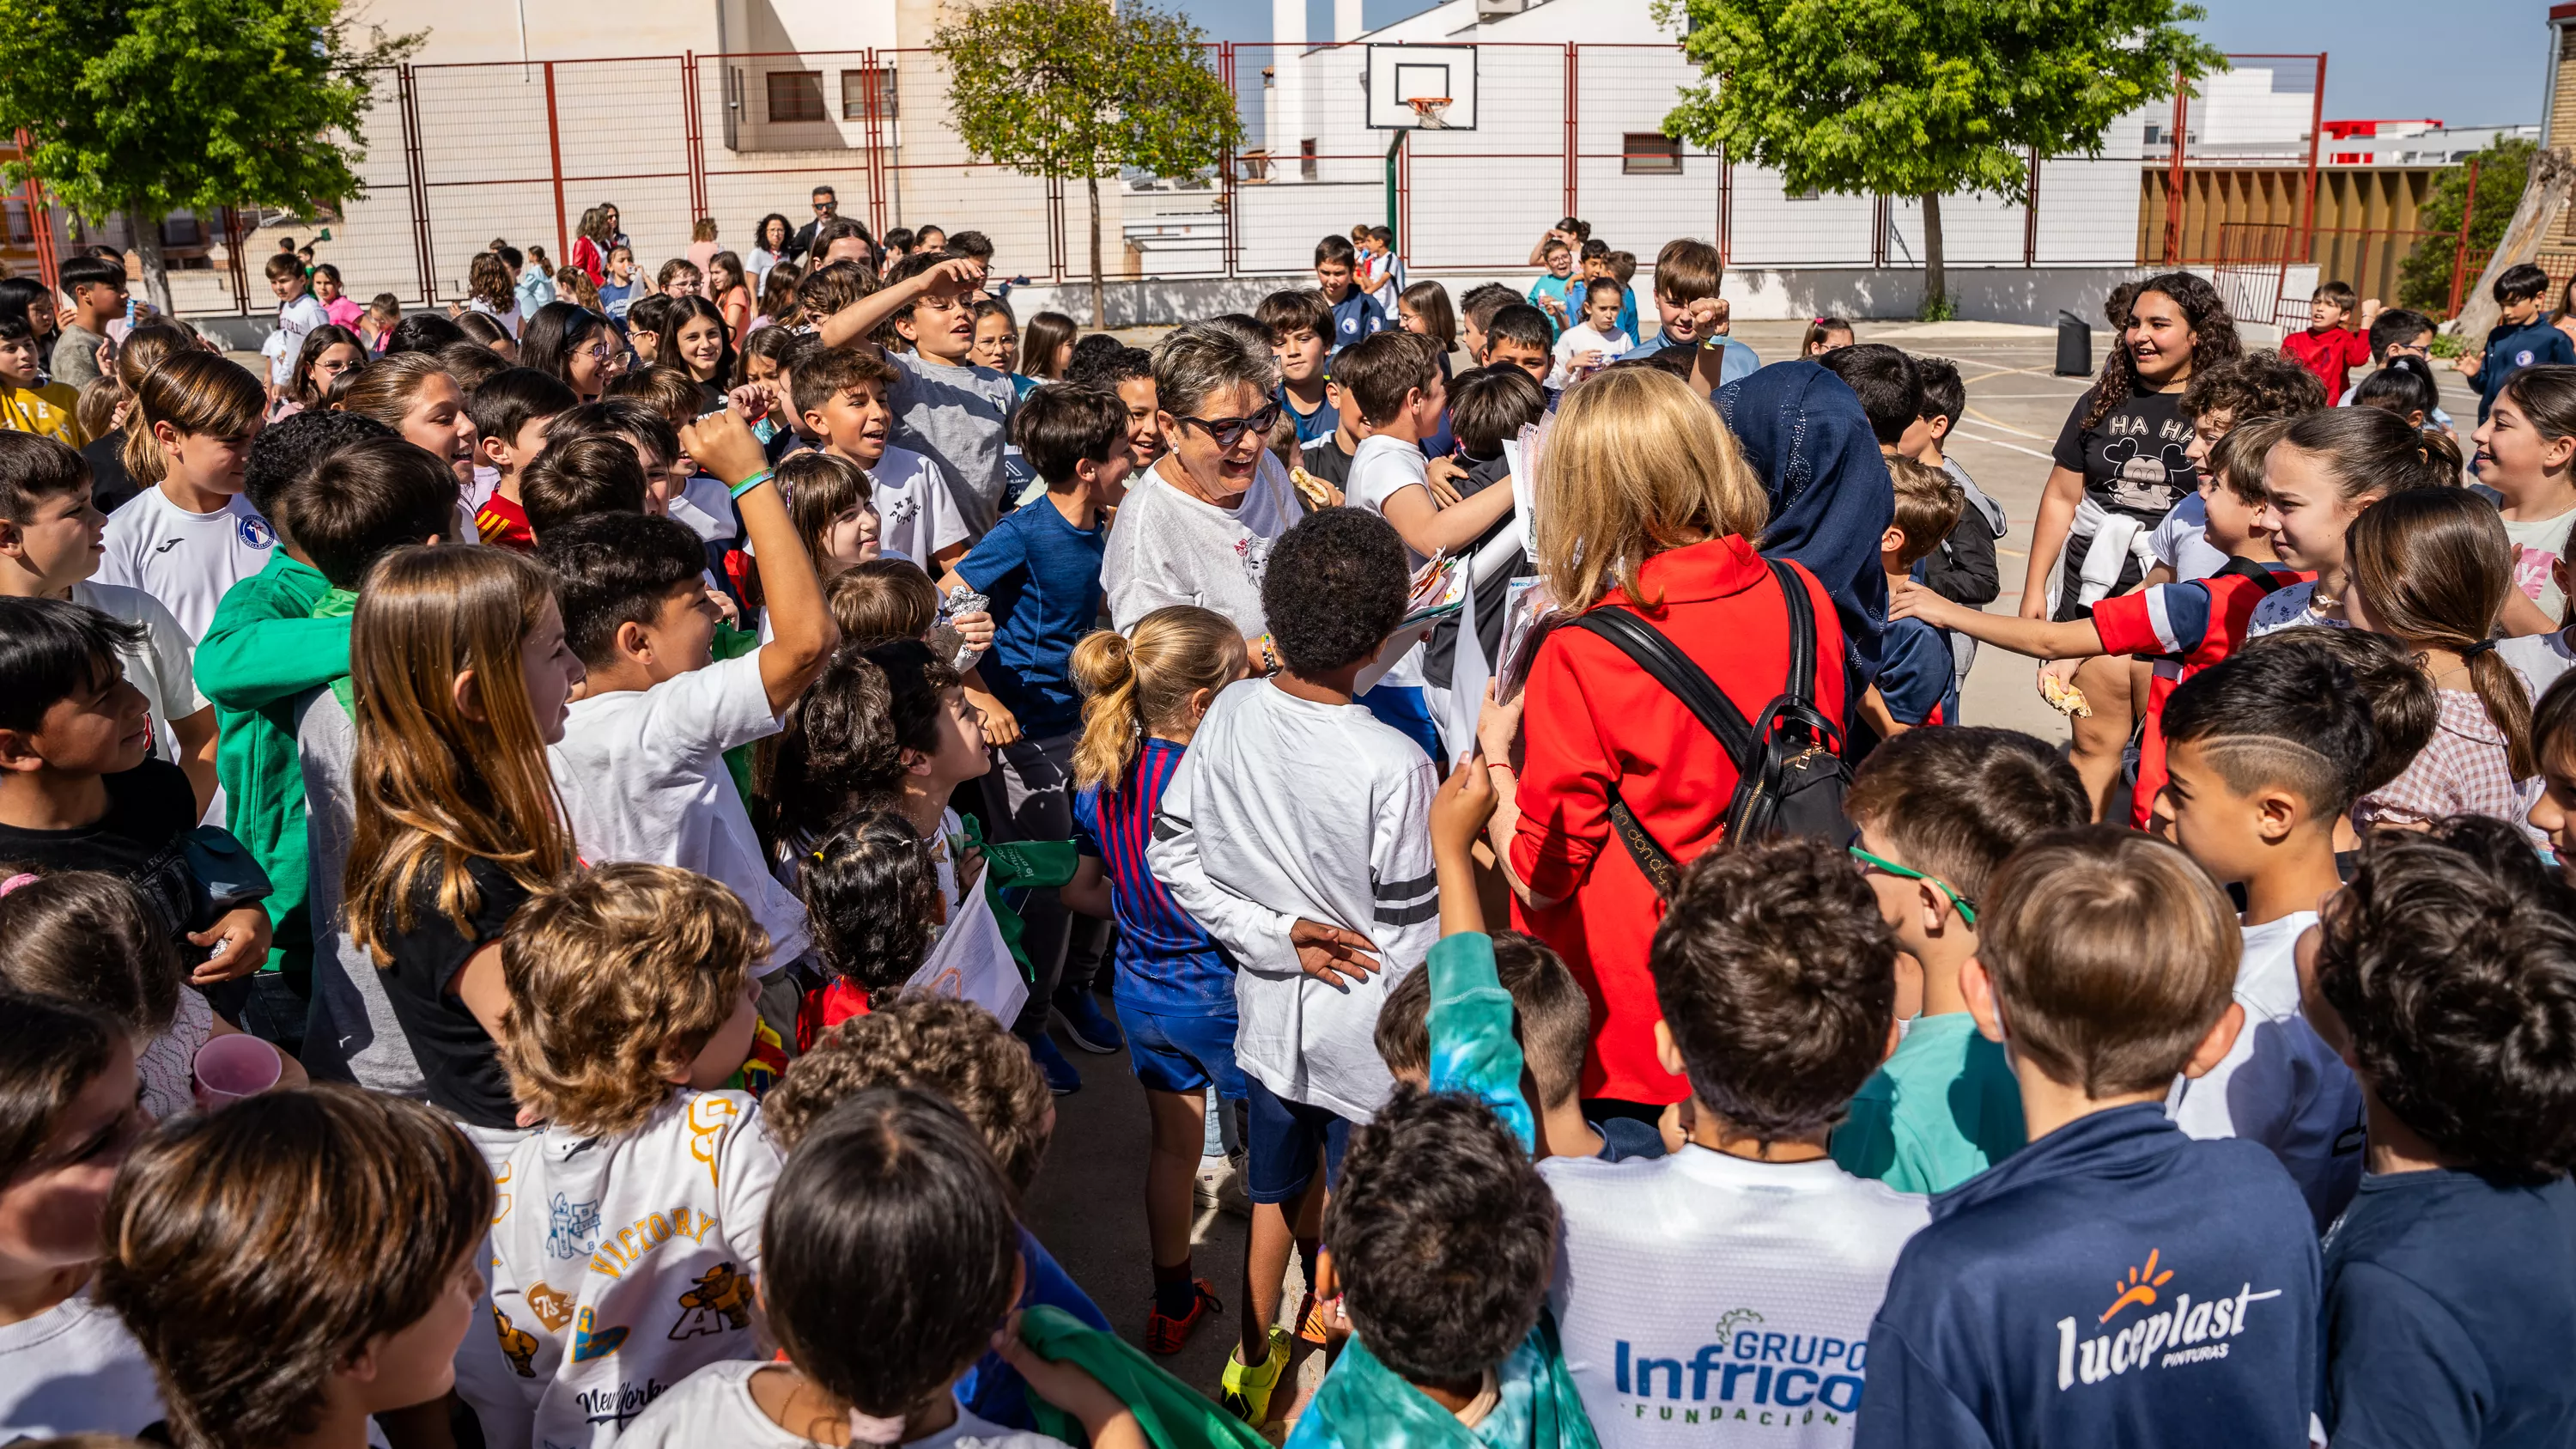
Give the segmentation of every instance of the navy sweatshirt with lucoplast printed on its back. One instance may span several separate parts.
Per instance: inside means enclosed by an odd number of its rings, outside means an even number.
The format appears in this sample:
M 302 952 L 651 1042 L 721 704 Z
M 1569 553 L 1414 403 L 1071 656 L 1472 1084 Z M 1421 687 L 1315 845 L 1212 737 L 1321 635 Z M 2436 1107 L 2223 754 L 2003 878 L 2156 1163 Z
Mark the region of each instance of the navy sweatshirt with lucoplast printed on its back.
M 2257 1142 L 2097 1111 L 1932 1199 L 1870 1325 L 1860 1449 L 2306 1449 L 2316 1225 Z

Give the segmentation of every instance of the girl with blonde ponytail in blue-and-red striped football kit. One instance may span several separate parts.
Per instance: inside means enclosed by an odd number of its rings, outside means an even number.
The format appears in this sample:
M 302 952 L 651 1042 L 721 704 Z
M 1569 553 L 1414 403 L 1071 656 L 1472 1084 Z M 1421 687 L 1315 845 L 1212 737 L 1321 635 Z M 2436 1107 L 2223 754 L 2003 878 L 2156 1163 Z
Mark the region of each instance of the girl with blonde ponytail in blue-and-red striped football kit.
M 1206 1142 L 1208 1085 L 1244 1098 L 1234 1065 L 1234 967 L 1144 864 L 1154 812 L 1216 694 L 1247 673 L 1242 632 L 1213 608 L 1157 608 L 1121 637 L 1074 645 L 1082 740 L 1074 745 L 1074 841 L 1082 869 L 1064 905 L 1118 920 L 1110 995 L 1128 1060 L 1144 1085 L 1154 1147 L 1144 1171 L 1144 1217 L 1154 1245 L 1154 1307 L 1144 1341 L 1180 1351 L 1216 1297 L 1190 1271 L 1190 1186 Z

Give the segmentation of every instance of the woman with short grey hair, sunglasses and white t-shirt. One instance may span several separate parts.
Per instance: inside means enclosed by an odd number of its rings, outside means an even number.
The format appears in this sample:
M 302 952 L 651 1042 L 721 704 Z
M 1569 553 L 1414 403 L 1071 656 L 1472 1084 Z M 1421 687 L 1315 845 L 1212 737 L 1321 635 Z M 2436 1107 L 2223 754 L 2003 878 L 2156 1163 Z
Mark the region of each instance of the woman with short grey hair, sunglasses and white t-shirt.
M 1298 521 L 1296 487 L 1270 454 L 1278 364 L 1224 327 L 1190 322 L 1154 348 L 1162 459 L 1128 482 L 1100 559 L 1110 621 L 1131 629 L 1170 603 L 1224 614 L 1252 668 L 1270 673 L 1262 565 Z

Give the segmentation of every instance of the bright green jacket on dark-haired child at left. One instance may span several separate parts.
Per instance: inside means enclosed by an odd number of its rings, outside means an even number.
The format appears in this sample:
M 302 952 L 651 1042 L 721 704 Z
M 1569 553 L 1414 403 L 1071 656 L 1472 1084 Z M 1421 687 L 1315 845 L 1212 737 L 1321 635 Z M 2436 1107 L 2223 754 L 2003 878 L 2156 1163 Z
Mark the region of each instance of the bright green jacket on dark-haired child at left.
M 214 701 L 222 732 L 214 776 L 224 781 L 224 822 L 273 887 L 263 969 L 296 980 L 312 975 L 314 954 L 296 701 L 348 676 L 348 616 L 312 616 L 330 593 L 322 570 L 273 549 L 268 567 L 224 593 L 196 645 L 196 688 Z

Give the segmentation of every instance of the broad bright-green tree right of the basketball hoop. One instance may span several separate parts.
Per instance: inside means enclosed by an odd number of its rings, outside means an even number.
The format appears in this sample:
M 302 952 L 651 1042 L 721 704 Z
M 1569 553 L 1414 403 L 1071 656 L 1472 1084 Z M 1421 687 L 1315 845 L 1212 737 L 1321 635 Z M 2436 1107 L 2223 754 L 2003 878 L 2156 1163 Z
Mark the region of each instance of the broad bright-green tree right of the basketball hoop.
M 1664 131 L 1780 173 L 1788 191 L 1917 196 L 1924 315 L 1945 317 L 1940 199 L 2030 199 L 2030 152 L 2102 131 L 2226 70 L 2182 0 L 1656 0 L 1708 77 Z

